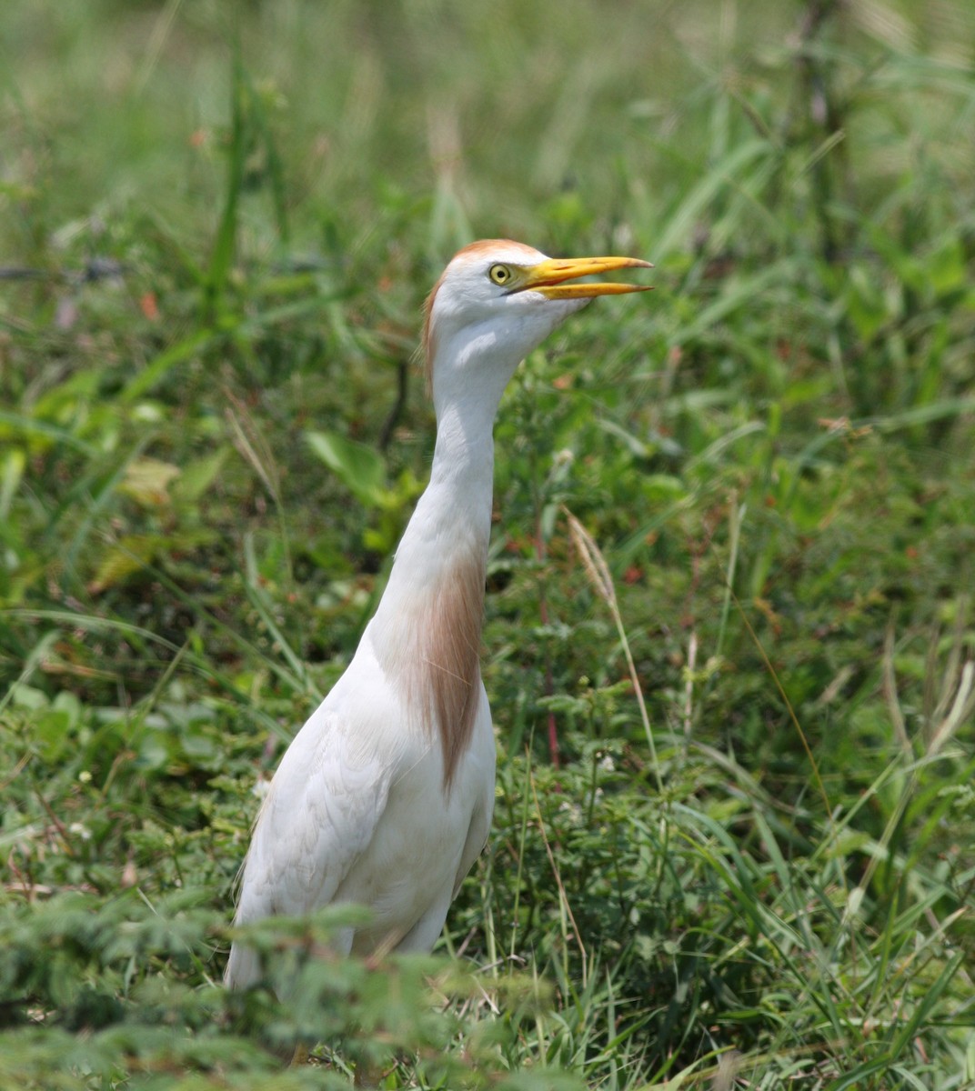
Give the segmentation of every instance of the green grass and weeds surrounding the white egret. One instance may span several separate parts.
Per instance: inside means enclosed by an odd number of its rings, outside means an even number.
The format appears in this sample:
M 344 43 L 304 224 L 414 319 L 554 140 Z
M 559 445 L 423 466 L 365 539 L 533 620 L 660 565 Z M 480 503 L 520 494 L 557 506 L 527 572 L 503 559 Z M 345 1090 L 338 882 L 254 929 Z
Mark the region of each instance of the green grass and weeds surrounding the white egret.
M 0 1088 L 975 1087 L 970 8 L 2 8 Z M 495 235 L 656 290 L 502 405 L 488 851 L 228 996 Z

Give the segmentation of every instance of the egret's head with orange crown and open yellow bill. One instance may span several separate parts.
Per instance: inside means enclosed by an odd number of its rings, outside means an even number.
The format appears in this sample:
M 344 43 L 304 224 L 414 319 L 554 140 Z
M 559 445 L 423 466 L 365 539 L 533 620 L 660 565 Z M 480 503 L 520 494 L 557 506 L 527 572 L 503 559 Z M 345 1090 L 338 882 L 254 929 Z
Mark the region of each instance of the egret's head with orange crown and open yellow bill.
M 435 404 L 463 398 L 497 408 L 519 362 L 596 296 L 647 287 L 580 277 L 651 268 L 635 257 L 547 257 L 509 239 L 486 239 L 451 260 L 425 308 L 424 355 Z

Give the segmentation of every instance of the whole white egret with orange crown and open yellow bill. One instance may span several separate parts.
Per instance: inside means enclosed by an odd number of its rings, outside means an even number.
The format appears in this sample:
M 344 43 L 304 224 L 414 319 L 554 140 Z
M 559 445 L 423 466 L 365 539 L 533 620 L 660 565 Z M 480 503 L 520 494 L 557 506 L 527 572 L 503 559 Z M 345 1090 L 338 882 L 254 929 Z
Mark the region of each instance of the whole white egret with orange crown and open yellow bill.
M 651 267 L 631 257 L 550 259 L 491 239 L 457 253 L 425 308 L 437 415 L 430 482 L 347 670 L 282 758 L 254 825 L 237 924 L 330 902 L 371 920 L 341 954 L 429 951 L 487 840 L 495 739 L 479 645 L 491 524 L 494 439 L 519 362 L 595 296 L 646 290 L 578 283 Z M 568 283 L 576 281 L 576 283 Z M 262 976 L 234 943 L 225 980 Z

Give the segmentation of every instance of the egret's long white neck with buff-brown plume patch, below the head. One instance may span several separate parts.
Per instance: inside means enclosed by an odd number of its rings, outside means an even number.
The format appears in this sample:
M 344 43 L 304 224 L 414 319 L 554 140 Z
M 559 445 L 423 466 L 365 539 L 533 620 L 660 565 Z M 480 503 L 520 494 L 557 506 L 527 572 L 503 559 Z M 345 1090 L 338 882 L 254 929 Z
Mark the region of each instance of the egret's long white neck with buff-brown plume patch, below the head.
M 380 663 L 439 736 L 449 787 L 480 695 L 497 403 L 459 398 L 437 408 L 430 483 L 400 541 L 370 631 Z

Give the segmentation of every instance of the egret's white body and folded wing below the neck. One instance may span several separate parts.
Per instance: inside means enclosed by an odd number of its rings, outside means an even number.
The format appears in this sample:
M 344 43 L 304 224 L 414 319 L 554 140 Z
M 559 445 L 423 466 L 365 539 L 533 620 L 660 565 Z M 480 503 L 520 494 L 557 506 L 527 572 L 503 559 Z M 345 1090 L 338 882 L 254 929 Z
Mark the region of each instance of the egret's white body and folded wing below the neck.
M 471 745 L 450 791 L 440 746 L 373 675 L 354 664 L 298 732 L 258 816 L 237 924 L 300 915 L 330 902 L 372 910 L 334 938 L 337 951 L 387 944 L 429 950 L 448 907 L 487 840 L 495 742 L 481 687 Z M 368 694 L 362 700 L 361 695 Z M 253 984 L 261 967 L 234 944 L 225 980 Z

